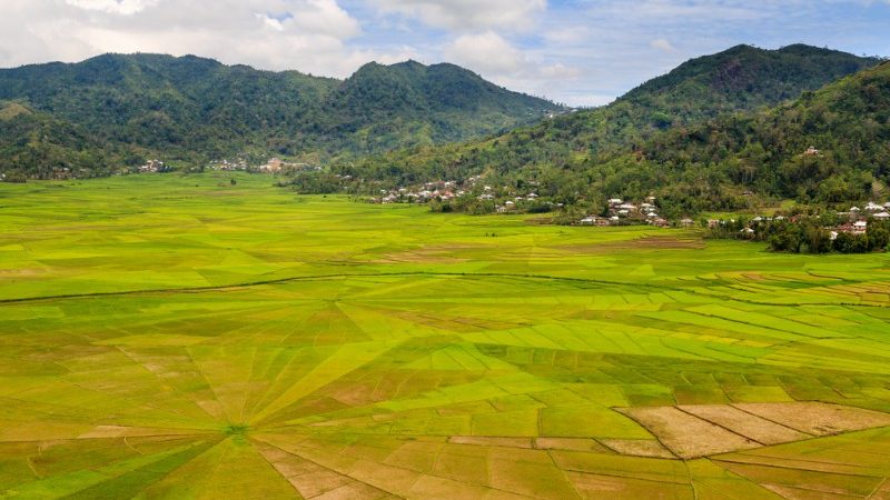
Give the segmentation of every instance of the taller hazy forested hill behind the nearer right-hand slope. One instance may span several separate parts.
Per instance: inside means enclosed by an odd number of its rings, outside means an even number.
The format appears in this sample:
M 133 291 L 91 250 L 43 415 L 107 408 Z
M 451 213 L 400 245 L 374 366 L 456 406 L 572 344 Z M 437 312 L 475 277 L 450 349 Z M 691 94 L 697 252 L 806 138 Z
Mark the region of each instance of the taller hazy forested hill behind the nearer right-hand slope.
M 795 99 L 878 63 L 874 58 L 808 46 L 763 50 L 739 46 L 690 60 L 610 106 L 557 117 L 494 139 L 415 148 L 372 158 L 352 173 L 397 183 L 490 171 L 537 177 L 590 170 L 653 136 L 726 112 L 754 111 Z M 555 172 L 555 173 L 554 173 Z M 632 172 L 627 172 L 633 177 Z M 619 192 L 606 176 L 596 179 Z M 593 180 L 592 180 L 593 181 Z

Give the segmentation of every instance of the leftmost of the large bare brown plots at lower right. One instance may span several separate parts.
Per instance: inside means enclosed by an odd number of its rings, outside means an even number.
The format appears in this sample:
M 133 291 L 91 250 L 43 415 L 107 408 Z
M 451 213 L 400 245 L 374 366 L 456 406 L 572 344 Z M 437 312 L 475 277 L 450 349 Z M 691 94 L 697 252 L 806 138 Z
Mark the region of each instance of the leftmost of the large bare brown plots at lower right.
M 758 448 L 755 441 L 730 432 L 674 407 L 621 410 L 657 436 L 680 458 L 692 459 L 734 450 Z

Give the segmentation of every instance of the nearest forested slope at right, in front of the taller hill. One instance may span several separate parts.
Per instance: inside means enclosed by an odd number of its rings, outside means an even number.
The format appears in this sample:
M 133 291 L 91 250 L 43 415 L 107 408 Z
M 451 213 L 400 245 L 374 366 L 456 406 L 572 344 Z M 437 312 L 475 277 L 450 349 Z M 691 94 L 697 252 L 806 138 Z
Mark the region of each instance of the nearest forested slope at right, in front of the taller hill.
M 532 132 L 507 137 L 520 133 Z M 530 146 L 534 141 L 498 141 L 510 146 L 507 151 L 536 153 Z M 435 168 L 423 167 L 424 161 L 442 161 L 445 167 L 439 173 L 446 178 L 484 172 L 485 183 L 494 186 L 534 181 L 543 199 L 587 212 L 599 212 L 607 198 L 647 196 L 655 196 L 660 213 L 670 217 L 788 198 L 849 208 L 850 201 L 890 193 L 890 61 L 817 91 L 803 91 L 797 100 L 773 108 L 725 113 L 654 132 L 633 147 L 600 153 L 596 160 L 555 166 L 553 160 L 560 157 L 553 157 L 550 162 L 511 166 L 510 160 L 497 162 L 492 156 L 501 144 L 484 147 L 487 162 L 478 160 L 479 146 L 453 148 L 449 154 L 457 156 L 448 163 L 442 149 L 425 159 L 416 153 L 402 161 L 414 161 L 413 169 L 427 171 Z M 405 174 L 377 164 L 368 162 L 360 173 L 376 173 L 388 181 Z

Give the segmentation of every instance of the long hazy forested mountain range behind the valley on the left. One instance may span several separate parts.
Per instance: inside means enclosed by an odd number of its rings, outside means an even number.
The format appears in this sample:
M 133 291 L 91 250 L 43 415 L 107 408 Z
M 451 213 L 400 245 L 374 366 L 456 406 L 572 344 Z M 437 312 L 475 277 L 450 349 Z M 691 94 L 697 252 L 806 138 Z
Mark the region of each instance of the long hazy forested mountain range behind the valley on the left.
M 451 64 L 370 63 L 339 81 L 161 54 L 2 69 L 0 101 L 0 108 L 12 103 L 33 112 L 1 118 L 0 134 L 6 169 L 30 171 L 69 163 L 97 146 L 103 151 L 98 169 L 149 156 L 200 162 L 255 153 L 320 161 L 465 141 L 562 110 Z M 97 143 L 71 142 L 70 133 L 34 138 L 38 118 Z

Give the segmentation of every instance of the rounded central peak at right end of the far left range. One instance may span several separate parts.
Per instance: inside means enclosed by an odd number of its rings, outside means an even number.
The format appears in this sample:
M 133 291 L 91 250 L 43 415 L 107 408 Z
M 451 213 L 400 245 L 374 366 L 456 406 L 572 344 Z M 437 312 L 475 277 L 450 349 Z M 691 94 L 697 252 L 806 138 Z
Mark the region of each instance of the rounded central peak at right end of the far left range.
M 562 110 L 454 64 L 415 61 L 364 66 L 328 97 L 325 109 L 325 130 L 352 136 L 363 152 L 461 141 Z

